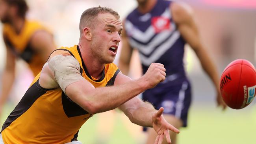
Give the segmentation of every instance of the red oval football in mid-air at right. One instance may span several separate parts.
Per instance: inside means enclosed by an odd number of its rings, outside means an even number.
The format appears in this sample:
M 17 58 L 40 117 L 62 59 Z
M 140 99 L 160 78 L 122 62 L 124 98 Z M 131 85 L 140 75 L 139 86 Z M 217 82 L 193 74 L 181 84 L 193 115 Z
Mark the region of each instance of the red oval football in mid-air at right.
M 249 105 L 256 94 L 255 68 L 245 59 L 232 61 L 221 75 L 220 90 L 224 102 L 232 109 Z

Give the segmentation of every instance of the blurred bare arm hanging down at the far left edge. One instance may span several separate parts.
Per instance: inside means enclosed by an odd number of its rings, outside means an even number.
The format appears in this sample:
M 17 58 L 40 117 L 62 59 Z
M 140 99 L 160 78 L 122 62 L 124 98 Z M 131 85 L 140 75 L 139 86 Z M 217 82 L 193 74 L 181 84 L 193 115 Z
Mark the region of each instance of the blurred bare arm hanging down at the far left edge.
M 6 65 L 2 74 L 2 89 L 0 95 L 0 115 L 15 80 L 15 55 L 11 52 L 10 48 L 7 46 L 6 48 Z

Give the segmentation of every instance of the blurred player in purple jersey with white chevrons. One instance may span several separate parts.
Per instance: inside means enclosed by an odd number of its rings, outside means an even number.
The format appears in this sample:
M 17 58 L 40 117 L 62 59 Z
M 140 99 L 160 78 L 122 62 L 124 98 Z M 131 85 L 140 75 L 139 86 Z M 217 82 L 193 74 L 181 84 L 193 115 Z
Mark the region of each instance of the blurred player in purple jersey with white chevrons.
M 184 45 L 195 51 L 201 66 L 215 86 L 217 104 L 226 108 L 219 93 L 219 75 L 200 41 L 193 13 L 183 3 L 167 0 L 137 0 L 135 8 L 124 20 L 119 68 L 128 74 L 133 48 L 139 51 L 143 74 L 151 63 L 163 63 L 166 80 L 146 90 L 143 100 L 156 109 L 164 107 L 165 119 L 175 127 L 187 126 L 191 103 L 191 87 L 184 70 Z M 170 133 L 176 144 L 176 134 Z M 156 133 L 148 129 L 147 144 L 153 144 Z M 166 143 L 166 142 L 165 142 Z

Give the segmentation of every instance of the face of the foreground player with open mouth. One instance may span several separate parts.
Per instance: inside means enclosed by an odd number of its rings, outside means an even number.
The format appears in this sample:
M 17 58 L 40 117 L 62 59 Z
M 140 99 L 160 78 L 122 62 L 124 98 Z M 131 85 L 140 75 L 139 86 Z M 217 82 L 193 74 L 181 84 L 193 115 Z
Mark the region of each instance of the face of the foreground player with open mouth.
M 102 63 L 113 63 L 121 41 L 122 22 L 110 13 L 99 14 L 92 30 L 92 52 Z

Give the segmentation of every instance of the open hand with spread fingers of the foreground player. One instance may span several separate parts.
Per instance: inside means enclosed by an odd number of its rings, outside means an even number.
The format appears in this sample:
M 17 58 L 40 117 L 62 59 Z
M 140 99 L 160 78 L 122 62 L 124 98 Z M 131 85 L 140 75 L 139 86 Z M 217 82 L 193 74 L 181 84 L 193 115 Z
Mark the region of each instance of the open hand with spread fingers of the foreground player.
M 161 144 L 163 142 L 163 138 L 166 138 L 168 144 L 171 144 L 171 138 L 169 134 L 169 130 L 174 133 L 180 133 L 176 127 L 169 124 L 165 118 L 163 117 L 163 107 L 161 107 L 153 116 L 153 128 L 157 133 L 155 144 Z

